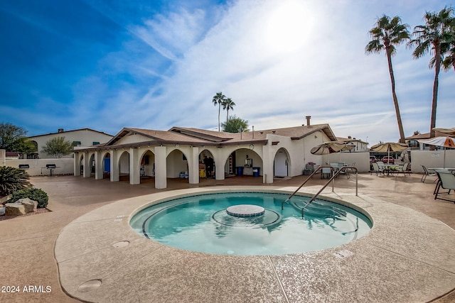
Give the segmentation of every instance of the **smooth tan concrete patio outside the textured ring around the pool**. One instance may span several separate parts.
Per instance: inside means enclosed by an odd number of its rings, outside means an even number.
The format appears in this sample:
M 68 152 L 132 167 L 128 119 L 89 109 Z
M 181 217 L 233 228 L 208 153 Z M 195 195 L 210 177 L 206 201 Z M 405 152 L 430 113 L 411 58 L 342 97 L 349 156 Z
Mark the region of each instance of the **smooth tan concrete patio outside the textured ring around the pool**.
M 305 180 L 305 176 L 289 180 L 275 180 L 274 187 L 294 189 Z M 420 175 L 411 177 L 377 177 L 375 175 L 360 175 L 359 193 L 372 199 L 405 206 L 417 210 L 427 216 L 444 222 L 455 228 L 455 204 L 433 199 L 434 183 L 427 180 L 419 182 Z M 203 180 L 198 186 L 188 184 L 186 180 L 169 180 L 168 189 L 185 189 L 193 187 L 213 187 L 216 185 L 259 185 L 262 178 L 232 177 L 224 181 Z M 164 190 L 153 189 L 151 182 L 139 185 L 129 185 L 127 182 L 109 182 L 108 180 L 85 179 L 82 177 L 33 177 L 31 182 L 37 188 L 48 192 L 50 202 L 49 213 L 25 216 L 17 219 L 0 221 L 0 255 L 4 260 L 0 271 L 3 286 L 14 286 L 19 292 L 0 292 L 0 302 L 79 302 L 69 297 L 60 287 L 58 266 L 54 256 L 55 241 L 65 226 L 73 220 L 98 209 L 130 197 L 139 197 Z M 304 192 L 315 192 L 324 180 L 315 177 L 304 188 Z M 353 178 L 347 180 L 342 176 L 336 180 L 335 195 L 351 194 L 354 191 Z M 331 194 L 331 188 L 323 194 Z M 412 211 L 411 211 L 412 212 Z M 454 233 L 451 230 L 451 233 Z M 451 255 L 446 256 L 449 262 L 455 260 L 455 243 L 448 243 Z M 452 263 L 453 265 L 453 263 Z M 455 272 L 447 268 L 446 274 L 454 281 Z M 449 279 L 449 281 L 450 281 Z M 447 281 L 447 280 L 446 280 Z M 434 281 L 437 287 L 439 281 Z M 31 285 L 32 287 L 28 287 Z M 25 292 L 33 290 L 33 292 Z M 11 289 L 11 287 L 10 287 Z M 447 287 L 445 287 L 447 289 Z M 450 287 L 449 287 L 450 289 Z M 50 290 L 50 291 L 49 291 Z M 134 301 L 134 298 L 131 298 Z M 168 302 L 178 302 L 169 300 Z M 431 299 L 437 302 L 455 302 L 455 294 L 438 293 Z M 428 299 L 425 299 L 428 301 Z M 247 300 L 245 300 L 247 302 Z M 299 302 L 299 301 L 292 301 Z M 414 301 L 412 301 L 414 302 Z M 423 302 L 423 301 L 422 301 Z

